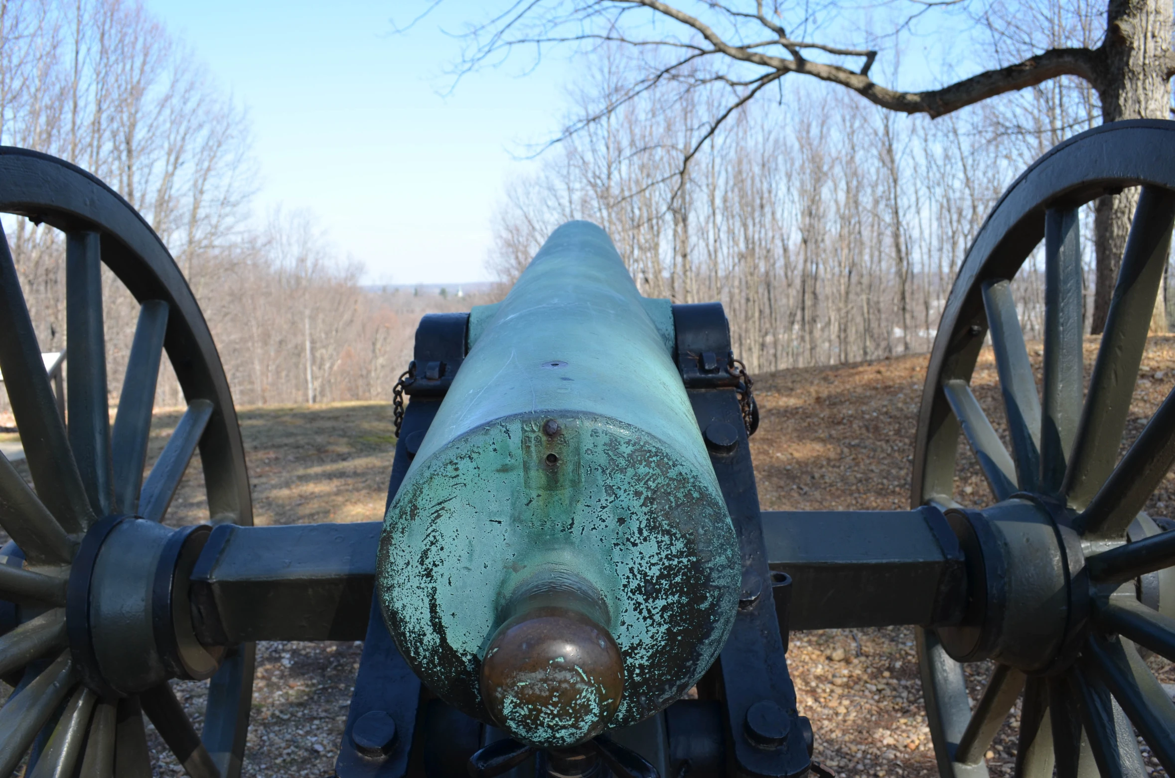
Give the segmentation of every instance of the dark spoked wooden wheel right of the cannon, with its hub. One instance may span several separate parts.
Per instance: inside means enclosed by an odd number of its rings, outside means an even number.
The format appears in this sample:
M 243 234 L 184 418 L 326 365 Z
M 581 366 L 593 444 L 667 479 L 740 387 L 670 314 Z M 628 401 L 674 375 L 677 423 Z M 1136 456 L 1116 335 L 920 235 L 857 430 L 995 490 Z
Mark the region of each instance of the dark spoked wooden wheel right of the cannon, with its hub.
M 1141 186 L 1097 360 L 1083 389 L 1079 208 Z M 942 776 L 986 776 L 983 754 L 1022 698 L 1015 774 L 1144 776 L 1135 730 L 1175 772 L 1175 705 L 1136 645 L 1175 659 L 1175 532 L 1143 512 L 1175 462 L 1175 394 L 1119 461 L 1175 222 L 1175 122 L 1107 125 L 1056 147 L 1003 194 L 967 254 L 934 342 L 914 456 L 915 505 L 946 510 L 968 558 L 962 624 L 919 630 Z M 1038 394 L 1008 281 L 1045 241 Z M 972 394 L 991 333 L 1012 452 Z M 959 432 L 995 495 L 952 499 Z M 1128 541 L 1128 529 L 1132 528 Z M 1146 537 L 1150 536 L 1153 537 Z M 1143 539 L 1146 538 L 1146 539 Z M 1162 572 L 1160 572 L 1162 571 Z M 1160 572 L 1156 608 L 1141 576 Z M 966 662 L 994 659 L 971 709 Z M 1132 726 L 1133 725 L 1133 726 Z

